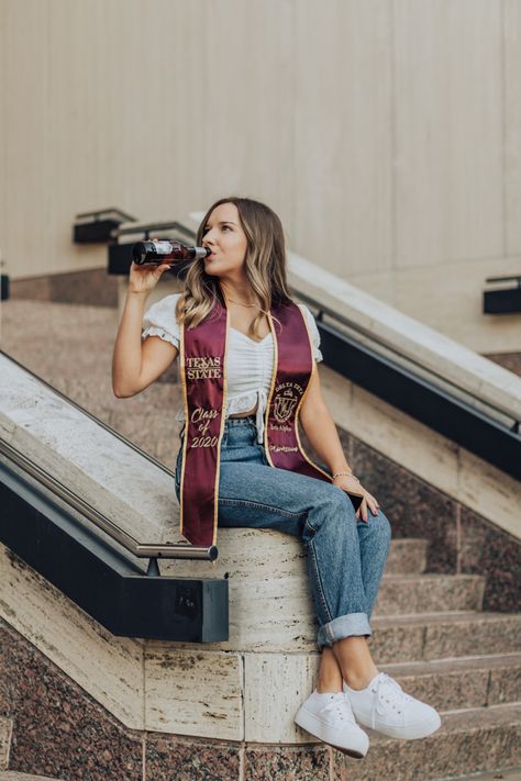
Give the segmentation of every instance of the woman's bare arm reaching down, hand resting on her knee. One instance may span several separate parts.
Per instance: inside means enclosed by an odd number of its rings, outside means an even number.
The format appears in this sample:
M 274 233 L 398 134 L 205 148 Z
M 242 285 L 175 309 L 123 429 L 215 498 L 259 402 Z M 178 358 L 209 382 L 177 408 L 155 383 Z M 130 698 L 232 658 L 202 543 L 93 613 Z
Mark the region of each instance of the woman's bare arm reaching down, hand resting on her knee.
M 329 466 L 332 475 L 340 471 L 352 471 L 345 458 L 335 422 L 322 395 L 317 367 L 311 376 L 304 400 L 300 408 L 299 421 L 312 447 L 320 459 Z M 378 513 L 378 502 L 376 499 L 354 478 L 342 475 L 335 478 L 334 484 L 350 493 L 364 493 L 366 502 L 363 502 L 358 507 L 356 512 L 357 517 L 362 514 L 364 521 L 367 521 L 366 503 L 374 515 Z

